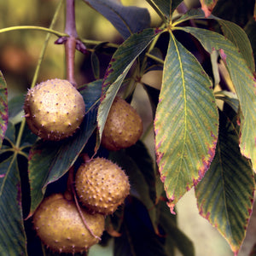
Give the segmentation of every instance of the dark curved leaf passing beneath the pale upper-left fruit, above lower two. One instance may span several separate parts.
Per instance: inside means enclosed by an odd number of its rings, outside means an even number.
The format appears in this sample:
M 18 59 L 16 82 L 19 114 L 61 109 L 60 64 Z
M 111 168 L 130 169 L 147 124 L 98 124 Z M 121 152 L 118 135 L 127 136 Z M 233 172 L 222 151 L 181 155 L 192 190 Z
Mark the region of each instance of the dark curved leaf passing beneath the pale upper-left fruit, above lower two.
M 84 97 L 86 114 L 80 130 L 71 138 L 61 142 L 38 141 L 30 150 L 28 171 L 31 186 L 30 215 L 43 200 L 47 185 L 62 177 L 87 143 L 96 129 L 96 112 L 102 93 L 102 80 L 84 85 L 81 94 Z

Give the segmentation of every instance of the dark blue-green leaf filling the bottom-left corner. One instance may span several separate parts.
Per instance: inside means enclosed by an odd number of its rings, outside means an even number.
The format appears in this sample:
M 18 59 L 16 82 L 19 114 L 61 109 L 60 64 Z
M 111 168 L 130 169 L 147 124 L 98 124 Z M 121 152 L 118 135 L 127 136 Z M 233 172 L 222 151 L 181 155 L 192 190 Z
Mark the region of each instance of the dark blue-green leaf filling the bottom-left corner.
M 0 163 L 0 252 L 27 255 L 16 154 Z

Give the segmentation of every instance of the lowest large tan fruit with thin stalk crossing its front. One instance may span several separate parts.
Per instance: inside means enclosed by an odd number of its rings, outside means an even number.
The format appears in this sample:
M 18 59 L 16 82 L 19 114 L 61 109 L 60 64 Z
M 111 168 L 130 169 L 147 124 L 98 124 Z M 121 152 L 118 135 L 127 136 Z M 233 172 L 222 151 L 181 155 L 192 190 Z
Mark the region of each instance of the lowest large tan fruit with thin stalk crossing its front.
M 84 208 L 81 211 L 93 234 L 102 236 L 102 214 L 91 214 Z M 33 215 L 33 223 L 41 241 L 54 252 L 82 253 L 99 241 L 86 229 L 74 201 L 67 201 L 62 194 L 44 199 Z

